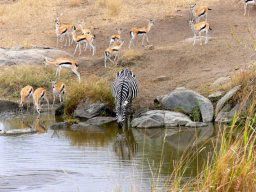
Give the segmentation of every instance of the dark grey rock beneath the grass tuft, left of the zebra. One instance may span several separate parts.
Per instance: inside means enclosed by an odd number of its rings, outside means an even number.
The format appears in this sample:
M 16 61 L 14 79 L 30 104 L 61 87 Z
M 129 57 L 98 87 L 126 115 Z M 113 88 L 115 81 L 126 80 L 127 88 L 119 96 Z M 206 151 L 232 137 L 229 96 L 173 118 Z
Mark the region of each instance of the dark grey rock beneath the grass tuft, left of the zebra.
M 74 111 L 74 116 L 90 119 L 108 112 L 109 109 L 106 103 L 88 104 L 88 102 L 85 102 L 78 105 L 77 109 Z

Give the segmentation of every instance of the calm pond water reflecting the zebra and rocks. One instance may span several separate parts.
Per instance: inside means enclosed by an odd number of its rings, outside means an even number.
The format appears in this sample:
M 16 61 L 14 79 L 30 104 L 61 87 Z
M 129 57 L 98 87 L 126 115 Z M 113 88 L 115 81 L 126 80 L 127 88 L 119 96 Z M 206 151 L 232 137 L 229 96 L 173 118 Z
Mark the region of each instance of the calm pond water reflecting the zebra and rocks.
M 48 129 L 55 121 L 50 114 L 0 119 L 0 130 L 35 130 L 35 134 L 0 137 L 0 191 L 150 191 L 152 172 L 162 167 L 161 188 L 174 161 L 184 152 L 204 147 L 184 176 L 195 175 L 211 153 L 215 135 L 213 126 Z

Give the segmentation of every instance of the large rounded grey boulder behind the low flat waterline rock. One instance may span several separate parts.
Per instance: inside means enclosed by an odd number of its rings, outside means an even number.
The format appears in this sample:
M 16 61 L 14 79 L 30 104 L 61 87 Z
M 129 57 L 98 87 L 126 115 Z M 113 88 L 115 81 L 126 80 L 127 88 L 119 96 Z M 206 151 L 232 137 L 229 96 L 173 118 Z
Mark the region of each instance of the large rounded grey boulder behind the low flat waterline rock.
M 213 120 L 213 105 L 211 101 L 200 95 L 199 93 L 186 89 L 176 88 L 168 95 L 158 97 L 157 101 L 167 110 L 181 110 L 186 114 L 199 107 L 203 122 L 211 122 Z

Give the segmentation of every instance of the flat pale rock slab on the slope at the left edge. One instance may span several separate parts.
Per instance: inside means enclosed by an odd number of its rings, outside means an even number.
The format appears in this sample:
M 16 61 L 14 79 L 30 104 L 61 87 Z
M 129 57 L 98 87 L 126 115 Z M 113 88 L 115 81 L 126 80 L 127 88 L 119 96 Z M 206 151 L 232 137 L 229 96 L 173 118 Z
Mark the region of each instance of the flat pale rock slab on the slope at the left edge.
M 55 48 L 34 47 L 26 49 L 24 47 L 14 47 L 0 50 L 0 66 L 13 64 L 38 64 L 42 65 L 44 57 L 56 58 L 71 56 L 69 53 Z

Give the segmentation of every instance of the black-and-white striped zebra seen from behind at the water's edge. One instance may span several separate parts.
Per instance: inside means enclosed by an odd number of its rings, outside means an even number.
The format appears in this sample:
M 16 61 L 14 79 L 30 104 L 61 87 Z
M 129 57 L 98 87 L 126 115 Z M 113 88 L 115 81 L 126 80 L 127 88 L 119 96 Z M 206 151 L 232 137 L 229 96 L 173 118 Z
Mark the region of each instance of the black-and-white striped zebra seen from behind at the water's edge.
M 112 84 L 112 95 L 115 98 L 117 124 L 119 128 L 122 128 L 127 105 L 138 95 L 136 76 L 128 68 L 116 74 L 116 79 Z

